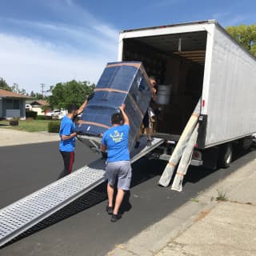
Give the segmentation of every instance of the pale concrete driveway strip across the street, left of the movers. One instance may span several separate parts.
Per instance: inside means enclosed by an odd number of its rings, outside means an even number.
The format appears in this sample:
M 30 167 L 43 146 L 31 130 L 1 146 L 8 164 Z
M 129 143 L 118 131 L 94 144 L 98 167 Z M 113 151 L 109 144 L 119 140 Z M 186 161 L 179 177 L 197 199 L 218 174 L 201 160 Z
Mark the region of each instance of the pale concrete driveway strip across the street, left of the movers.
M 30 133 L 27 131 L 0 128 L 0 135 L 0 147 L 30 143 L 55 142 L 59 140 L 58 134 L 50 134 L 45 131 Z

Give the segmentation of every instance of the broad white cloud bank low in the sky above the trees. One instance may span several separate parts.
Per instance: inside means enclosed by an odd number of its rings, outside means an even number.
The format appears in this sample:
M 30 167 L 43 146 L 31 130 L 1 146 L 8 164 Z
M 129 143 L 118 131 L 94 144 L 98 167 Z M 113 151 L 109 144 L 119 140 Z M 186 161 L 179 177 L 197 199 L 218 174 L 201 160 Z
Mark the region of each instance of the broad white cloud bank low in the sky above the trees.
M 71 79 L 98 82 L 106 62 L 116 60 L 116 56 L 107 53 L 95 54 L 94 58 L 80 54 L 59 50 L 50 43 L 0 34 L 0 76 L 10 85 L 18 83 L 27 92 L 39 91 L 40 83 L 51 86 Z

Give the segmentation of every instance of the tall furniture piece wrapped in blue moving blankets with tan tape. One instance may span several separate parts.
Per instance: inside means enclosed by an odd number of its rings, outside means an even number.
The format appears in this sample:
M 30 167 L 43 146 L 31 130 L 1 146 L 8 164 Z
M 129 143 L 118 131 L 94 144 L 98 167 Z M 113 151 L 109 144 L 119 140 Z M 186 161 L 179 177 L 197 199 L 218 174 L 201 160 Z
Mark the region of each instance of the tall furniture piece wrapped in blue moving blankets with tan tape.
M 150 104 L 149 78 L 142 62 L 113 62 L 106 65 L 86 109 L 78 121 L 78 134 L 99 136 L 111 125 L 111 115 L 126 104 L 130 118 L 129 149 L 134 146 L 138 128 Z

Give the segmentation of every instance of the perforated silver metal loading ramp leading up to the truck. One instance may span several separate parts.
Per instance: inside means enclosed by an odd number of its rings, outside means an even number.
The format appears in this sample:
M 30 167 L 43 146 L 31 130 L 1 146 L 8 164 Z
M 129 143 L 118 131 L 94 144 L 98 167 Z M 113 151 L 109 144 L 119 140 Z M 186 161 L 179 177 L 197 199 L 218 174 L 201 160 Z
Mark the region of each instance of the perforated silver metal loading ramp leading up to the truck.
M 146 146 L 146 138 L 142 138 L 139 149 L 131 153 L 131 162 L 142 158 L 162 142 L 162 138 L 154 138 L 152 145 Z M 6 206 L 0 210 L 0 246 L 61 210 L 82 194 L 93 190 L 105 180 L 105 161 L 98 159 L 89 166 L 84 166 L 10 206 Z

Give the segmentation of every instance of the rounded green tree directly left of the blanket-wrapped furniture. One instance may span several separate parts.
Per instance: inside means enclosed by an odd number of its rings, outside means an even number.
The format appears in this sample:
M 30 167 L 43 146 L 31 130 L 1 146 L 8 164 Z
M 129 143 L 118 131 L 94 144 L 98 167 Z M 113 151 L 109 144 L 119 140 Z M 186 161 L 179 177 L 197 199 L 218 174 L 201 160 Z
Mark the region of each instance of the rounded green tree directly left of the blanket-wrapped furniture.
M 95 85 L 89 82 L 59 82 L 51 89 L 52 95 L 49 96 L 50 106 L 60 110 L 66 109 L 70 104 L 81 106 L 86 97 L 93 92 Z

